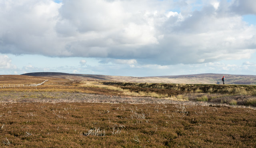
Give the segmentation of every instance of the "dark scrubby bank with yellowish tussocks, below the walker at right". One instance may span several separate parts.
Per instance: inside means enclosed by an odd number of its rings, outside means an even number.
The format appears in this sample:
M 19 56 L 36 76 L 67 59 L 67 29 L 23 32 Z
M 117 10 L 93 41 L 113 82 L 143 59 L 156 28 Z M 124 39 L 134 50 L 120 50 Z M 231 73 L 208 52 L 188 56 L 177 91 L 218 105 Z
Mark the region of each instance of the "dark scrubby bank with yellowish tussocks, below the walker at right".
M 256 106 L 254 103 L 256 102 L 256 86 L 253 85 L 101 83 L 104 85 L 120 87 L 126 91 L 155 92 L 157 94 L 168 96 L 164 98 L 176 98 L 177 100 L 183 99 L 216 104 Z

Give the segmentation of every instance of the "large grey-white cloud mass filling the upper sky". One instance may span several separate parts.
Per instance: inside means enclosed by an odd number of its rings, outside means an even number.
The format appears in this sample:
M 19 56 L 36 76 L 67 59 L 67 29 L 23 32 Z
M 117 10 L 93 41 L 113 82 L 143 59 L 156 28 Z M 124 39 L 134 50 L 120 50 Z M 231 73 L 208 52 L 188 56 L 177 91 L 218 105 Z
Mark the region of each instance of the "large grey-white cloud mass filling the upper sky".
M 241 15 L 255 14 L 255 2 L 8 0 L 0 3 L 0 53 L 96 57 L 131 65 L 250 58 L 256 26 Z

